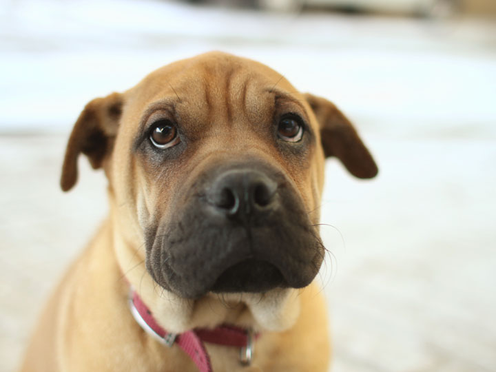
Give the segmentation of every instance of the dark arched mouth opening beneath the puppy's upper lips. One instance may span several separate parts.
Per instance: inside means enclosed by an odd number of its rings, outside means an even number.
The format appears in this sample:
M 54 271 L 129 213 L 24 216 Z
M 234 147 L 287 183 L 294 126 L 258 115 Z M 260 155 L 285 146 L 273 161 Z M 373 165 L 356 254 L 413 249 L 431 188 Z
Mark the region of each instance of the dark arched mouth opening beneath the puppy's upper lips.
M 281 271 L 270 262 L 250 258 L 223 271 L 211 291 L 261 293 L 276 287 L 289 287 Z

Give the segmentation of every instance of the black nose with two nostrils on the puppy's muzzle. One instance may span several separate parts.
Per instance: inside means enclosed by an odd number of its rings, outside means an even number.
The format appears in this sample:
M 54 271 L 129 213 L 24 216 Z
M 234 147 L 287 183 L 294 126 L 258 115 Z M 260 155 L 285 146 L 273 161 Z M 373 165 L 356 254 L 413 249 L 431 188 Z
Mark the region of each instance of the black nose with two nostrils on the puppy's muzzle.
M 231 169 L 220 174 L 210 190 L 210 201 L 229 218 L 247 221 L 276 206 L 278 185 L 252 169 Z

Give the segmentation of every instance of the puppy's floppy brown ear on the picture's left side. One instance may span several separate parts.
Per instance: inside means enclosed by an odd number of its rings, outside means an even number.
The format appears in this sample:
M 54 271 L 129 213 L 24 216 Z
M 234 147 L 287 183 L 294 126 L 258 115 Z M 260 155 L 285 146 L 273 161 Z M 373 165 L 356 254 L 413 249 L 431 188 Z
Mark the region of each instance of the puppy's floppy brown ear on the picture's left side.
M 65 149 L 61 176 L 63 191 L 70 190 L 76 184 L 79 154 L 85 154 L 94 169 L 102 167 L 105 157 L 114 147 L 122 106 L 123 97 L 118 93 L 94 99 L 85 106 Z

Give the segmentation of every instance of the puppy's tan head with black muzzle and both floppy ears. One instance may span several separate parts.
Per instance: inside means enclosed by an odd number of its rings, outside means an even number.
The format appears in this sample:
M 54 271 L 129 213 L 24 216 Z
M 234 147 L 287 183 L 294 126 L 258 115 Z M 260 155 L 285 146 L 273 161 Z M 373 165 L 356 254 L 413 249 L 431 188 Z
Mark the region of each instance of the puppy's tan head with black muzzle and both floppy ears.
M 378 172 L 332 103 L 218 52 L 88 103 L 68 143 L 64 190 L 81 152 L 105 169 L 121 249 L 189 299 L 309 285 L 324 258 L 324 158 L 360 178 Z

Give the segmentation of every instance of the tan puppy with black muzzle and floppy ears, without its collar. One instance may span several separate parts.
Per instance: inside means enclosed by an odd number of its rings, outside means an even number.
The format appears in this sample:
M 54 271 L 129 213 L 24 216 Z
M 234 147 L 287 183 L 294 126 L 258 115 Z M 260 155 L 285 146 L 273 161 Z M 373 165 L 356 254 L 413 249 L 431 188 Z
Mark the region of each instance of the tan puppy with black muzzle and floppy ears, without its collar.
M 378 172 L 332 103 L 212 52 L 88 103 L 65 191 L 81 153 L 105 170 L 110 216 L 48 302 L 23 371 L 197 371 L 178 342 L 136 322 L 130 288 L 168 332 L 258 333 L 249 366 L 237 347 L 205 342 L 216 372 L 327 371 L 327 311 L 313 284 L 324 158 L 360 178 Z

